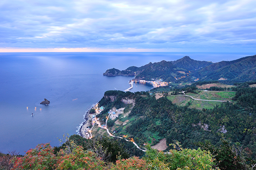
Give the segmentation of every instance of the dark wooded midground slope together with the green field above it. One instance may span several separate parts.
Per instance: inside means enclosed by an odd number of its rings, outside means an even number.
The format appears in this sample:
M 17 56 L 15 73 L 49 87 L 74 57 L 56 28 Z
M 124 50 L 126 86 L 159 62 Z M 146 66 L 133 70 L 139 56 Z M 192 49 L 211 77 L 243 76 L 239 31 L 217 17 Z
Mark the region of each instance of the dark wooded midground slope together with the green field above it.
M 166 90 L 164 94 L 172 93 L 171 88 L 163 89 Z M 236 87 L 233 89 L 237 92 L 213 92 L 194 90 L 194 84 L 176 90 L 179 92 L 188 89 L 194 93 L 187 92 L 186 95 L 193 98 L 229 100 L 232 103 L 198 101 L 178 95 L 163 95 L 162 98 L 156 99 L 155 95 L 149 95 L 148 92 L 129 93 L 129 98 L 135 99 L 135 105 L 133 108 L 130 107 L 131 112 L 127 118 L 119 118 L 122 122 L 129 120 L 127 124 L 113 126 L 115 134 L 117 136 L 128 135 L 142 148 L 143 144 L 153 145 L 164 137 L 167 139 L 167 144 L 177 140 L 190 149 L 196 149 L 198 147 L 196 143 L 206 139 L 218 146 L 221 144 L 221 138 L 227 137 L 232 143 L 243 144 L 244 148 L 251 151 L 249 157 L 255 159 L 256 146 L 252 141 L 256 141 L 256 138 L 252 134 L 256 126 L 254 123 L 256 100 L 252 95 L 254 94 L 252 89 L 256 88 L 241 87 L 239 90 Z M 121 95 L 127 96 L 127 94 L 116 93 L 118 95 L 115 101 L 106 104 L 116 103 L 124 106 L 117 98 L 121 98 Z M 247 95 L 251 97 L 248 98 Z M 236 99 L 236 102 L 232 98 Z M 105 103 L 104 100 L 105 98 L 102 98 L 103 103 Z

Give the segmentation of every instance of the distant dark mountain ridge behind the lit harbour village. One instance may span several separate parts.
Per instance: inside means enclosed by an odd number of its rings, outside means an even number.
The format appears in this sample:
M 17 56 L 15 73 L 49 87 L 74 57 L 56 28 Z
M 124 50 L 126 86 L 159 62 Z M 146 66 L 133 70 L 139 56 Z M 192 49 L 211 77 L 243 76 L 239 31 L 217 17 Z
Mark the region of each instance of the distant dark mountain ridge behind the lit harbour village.
M 176 61 L 148 63 L 141 67 L 131 66 L 120 71 L 108 69 L 105 76 L 135 76 L 136 80 L 162 78 L 164 81 L 229 80 L 249 81 L 256 79 L 256 55 L 212 63 L 197 61 L 185 56 Z

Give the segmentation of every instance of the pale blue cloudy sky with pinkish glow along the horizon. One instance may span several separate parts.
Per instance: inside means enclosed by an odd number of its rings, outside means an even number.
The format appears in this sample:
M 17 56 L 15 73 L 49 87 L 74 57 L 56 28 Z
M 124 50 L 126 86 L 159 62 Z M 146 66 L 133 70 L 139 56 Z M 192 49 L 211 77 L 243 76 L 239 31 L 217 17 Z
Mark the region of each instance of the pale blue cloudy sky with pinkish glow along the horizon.
M 256 52 L 256 0 L 1 0 L 0 52 Z

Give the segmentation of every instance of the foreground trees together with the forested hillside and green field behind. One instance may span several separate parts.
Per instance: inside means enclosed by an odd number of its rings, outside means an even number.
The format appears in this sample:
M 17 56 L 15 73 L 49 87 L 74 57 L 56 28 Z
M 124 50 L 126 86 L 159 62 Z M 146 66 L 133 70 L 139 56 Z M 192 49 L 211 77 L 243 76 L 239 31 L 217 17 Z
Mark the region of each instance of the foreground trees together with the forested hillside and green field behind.
M 124 138 L 108 137 L 104 135 L 105 130 L 95 128 L 93 133 L 96 136 L 89 140 L 79 135 L 64 137 L 60 147 L 39 144 L 28 150 L 24 157 L 0 153 L 0 170 L 256 168 L 256 88 L 243 83 L 233 87 L 234 92 L 199 91 L 195 84 L 162 89 L 165 92 L 158 99 L 149 92 L 107 91 L 99 102 L 99 106 L 105 107 L 97 115 L 103 119 L 102 124 L 109 109 L 125 108 L 126 117 L 121 114 L 115 120 L 108 120 L 108 129 L 114 128 L 116 136 L 133 138 L 141 148 L 147 149 L 146 153 Z M 232 102 L 198 101 L 171 95 L 182 91 L 193 98 Z M 125 104 L 123 98 L 135 102 Z M 168 153 L 150 148 L 163 138 L 166 138 Z

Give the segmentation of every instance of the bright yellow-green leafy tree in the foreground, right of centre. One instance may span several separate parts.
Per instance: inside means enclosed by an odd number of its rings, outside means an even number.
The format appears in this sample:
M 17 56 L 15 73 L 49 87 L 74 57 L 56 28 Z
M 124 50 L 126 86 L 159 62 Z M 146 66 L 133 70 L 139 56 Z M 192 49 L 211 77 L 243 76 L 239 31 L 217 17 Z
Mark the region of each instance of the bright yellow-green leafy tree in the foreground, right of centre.
M 214 158 L 209 151 L 182 149 L 179 143 L 175 143 L 174 150 L 168 153 L 159 152 L 147 145 L 146 162 L 149 169 L 159 167 L 161 170 L 213 170 Z

